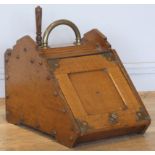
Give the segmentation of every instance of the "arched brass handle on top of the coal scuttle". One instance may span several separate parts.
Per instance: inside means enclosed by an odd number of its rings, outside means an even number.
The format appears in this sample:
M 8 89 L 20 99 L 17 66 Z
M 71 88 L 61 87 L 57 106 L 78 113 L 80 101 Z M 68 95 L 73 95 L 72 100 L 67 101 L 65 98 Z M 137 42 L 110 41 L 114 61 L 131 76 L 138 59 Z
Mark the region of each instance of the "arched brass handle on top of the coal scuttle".
M 74 23 L 72 23 L 71 21 L 69 21 L 69 20 L 61 19 L 61 20 L 57 20 L 57 21 L 51 23 L 47 27 L 47 29 L 45 30 L 44 35 L 43 35 L 43 41 L 42 41 L 42 47 L 43 48 L 47 48 L 48 47 L 48 37 L 49 37 L 49 34 L 56 26 L 59 26 L 59 25 L 67 25 L 67 26 L 71 27 L 72 30 L 75 33 L 75 36 L 76 36 L 76 44 L 77 45 L 81 44 L 81 34 L 80 34 L 80 31 L 77 28 L 77 26 Z

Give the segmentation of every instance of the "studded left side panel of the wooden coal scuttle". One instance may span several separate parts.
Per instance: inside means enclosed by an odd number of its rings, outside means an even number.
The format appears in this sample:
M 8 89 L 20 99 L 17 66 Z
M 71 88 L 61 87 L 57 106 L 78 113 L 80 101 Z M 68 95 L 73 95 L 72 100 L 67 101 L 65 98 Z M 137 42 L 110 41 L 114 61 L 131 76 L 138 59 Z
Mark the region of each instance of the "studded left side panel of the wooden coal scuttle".
M 5 81 L 7 121 L 38 129 L 71 146 L 77 136 L 74 133 L 77 125 L 63 97 L 60 97 L 61 92 L 55 95 L 58 87 L 46 67 L 46 60 L 39 57 L 35 42 L 25 36 L 17 41 L 11 55 L 9 51 L 5 54 L 8 59 L 5 76 L 9 76 Z M 63 136 L 66 138 L 61 139 Z

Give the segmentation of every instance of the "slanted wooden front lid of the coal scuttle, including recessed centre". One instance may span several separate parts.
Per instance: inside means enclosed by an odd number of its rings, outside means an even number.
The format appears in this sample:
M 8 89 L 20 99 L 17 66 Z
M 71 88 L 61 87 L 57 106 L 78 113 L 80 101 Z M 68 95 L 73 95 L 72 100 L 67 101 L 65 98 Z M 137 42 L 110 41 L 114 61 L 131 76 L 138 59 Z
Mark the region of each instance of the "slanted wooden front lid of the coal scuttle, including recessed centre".
M 92 63 L 93 62 L 93 63 Z M 136 124 L 138 100 L 115 61 L 102 54 L 66 58 L 59 61 L 55 75 L 76 119 L 93 129 L 109 129 L 109 115 L 116 113 L 119 122 L 113 128 Z

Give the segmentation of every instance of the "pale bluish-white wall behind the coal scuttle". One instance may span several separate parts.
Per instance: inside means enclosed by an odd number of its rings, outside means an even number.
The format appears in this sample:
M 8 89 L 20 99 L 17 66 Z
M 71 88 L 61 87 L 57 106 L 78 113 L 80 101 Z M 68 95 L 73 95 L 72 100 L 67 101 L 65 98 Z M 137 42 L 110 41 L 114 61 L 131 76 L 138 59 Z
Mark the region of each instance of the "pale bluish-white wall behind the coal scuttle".
M 138 90 L 155 90 L 155 5 L 41 5 L 43 31 L 54 20 L 69 19 L 81 34 L 99 29 L 117 50 Z M 4 52 L 24 35 L 35 38 L 36 5 L 0 5 L 0 97 L 4 96 Z M 74 33 L 56 28 L 50 44 L 71 43 Z

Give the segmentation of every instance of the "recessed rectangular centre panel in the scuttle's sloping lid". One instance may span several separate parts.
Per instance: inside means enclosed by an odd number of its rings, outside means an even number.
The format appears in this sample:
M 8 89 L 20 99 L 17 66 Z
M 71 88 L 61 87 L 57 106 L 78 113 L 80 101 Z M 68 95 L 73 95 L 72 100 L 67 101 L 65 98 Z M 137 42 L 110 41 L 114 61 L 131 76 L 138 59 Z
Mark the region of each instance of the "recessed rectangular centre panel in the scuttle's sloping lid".
M 124 108 L 124 102 L 106 69 L 71 73 L 69 79 L 88 115 Z M 111 100 L 112 96 L 115 100 Z

